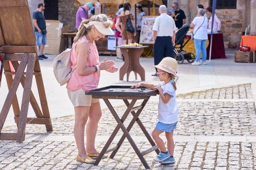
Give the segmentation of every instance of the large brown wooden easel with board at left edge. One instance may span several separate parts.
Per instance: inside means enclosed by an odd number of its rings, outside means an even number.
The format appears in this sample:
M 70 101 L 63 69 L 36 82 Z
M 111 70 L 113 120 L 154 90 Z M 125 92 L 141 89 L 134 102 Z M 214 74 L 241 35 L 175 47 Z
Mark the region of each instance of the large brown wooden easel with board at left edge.
M 45 124 L 46 131 L 53 131 L 27 0 L 0 1 L 0 45 L 1 55 L 4 55 L 4 75 L 9 88 L 0 113 L 0 140 L 23 142 L 27 123 Z M 15 71 L 11 71 L 9 62 Z M 33 75 L 36 79 L 41 110 L 31 89 Z M 16 95 L 20 83 L 23 86 L 21 108 Z M 36 118 L 27 118 L 29 103 L 35 111 Z M 18 127 L 17 133 L 1 133 L 11 105 Z

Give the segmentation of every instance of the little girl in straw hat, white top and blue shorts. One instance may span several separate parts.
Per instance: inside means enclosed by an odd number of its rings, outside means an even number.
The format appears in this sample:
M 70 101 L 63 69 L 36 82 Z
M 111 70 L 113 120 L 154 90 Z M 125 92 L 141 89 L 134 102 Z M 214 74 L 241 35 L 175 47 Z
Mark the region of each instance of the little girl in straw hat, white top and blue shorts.
M 173 132 L 176 129 L 178 121 L 178 105 L 176 100 L 176 81 L 177 81 L 177 61 L 172 57 L 165 57 L 158 65 L 156 75 L 160 79 L 158 85 L 149 83 L 134 84 L 132 87 L 144 86 L 149 89 L 158 89 L 159 103 L 158 103 L 158 123 L 152 137 L 160 149 L 160 154 L 156 157 L 155 161 L 161 164 L 175 163 L 173 156 L 174 153 L 174 140 Z M 167 139 L 167 149 L 160 134 L 165 133 Z

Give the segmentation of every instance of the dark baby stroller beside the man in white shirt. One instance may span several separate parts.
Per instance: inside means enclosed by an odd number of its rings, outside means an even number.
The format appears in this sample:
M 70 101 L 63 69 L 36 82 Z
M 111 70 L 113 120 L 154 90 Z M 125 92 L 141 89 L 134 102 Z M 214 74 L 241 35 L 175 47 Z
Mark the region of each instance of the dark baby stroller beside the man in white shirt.
M 175 56 L 174 59 L 177 60 L 177 63 L 181 64 L 184 62 L 184 59 L 186 59 L 189 63 L 194 62 L 195 55 L 192 52 L 186 52 L 183 47 L 186 46 L 187 42 L 189 42 L 190 39 L 188 39 L 185 44 L 184 38 L 187 34 L 187 31 L 189 31 L 189 25 L 184 24 L 176 33 L 176 39 L 175 39 L 175 45 L 174 45 L 174 52 Z

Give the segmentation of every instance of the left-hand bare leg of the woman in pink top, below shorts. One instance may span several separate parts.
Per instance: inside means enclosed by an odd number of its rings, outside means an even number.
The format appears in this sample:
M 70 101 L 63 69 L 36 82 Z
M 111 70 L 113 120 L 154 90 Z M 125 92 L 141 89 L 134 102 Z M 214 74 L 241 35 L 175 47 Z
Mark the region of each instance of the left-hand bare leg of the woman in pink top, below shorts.
M 85 124 L 87 123 L 88 115 L 89 115 L 90 107 L 75 107 L 75 125 L 74 125 L 74 136 L 75 143 L 77 144 L 77 149 L 79 152 L 79 156 L 83 159 L 87 157 L 85 151 Z

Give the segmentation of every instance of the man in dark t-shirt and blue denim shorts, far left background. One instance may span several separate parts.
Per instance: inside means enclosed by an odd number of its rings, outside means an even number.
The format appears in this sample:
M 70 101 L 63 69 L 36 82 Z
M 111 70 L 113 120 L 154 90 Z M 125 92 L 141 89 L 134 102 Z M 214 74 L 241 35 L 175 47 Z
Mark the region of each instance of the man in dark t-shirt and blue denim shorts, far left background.
M 45 16 L 43 16 L 42 13 L 43 10 L 45 10 L 45 4 L 40 3 L 38 4 L 37 9 L 33 12 L 33 25 L 35 26 L 35 38 L 39 60 L 48 59 L 48 57 L 43 54 L 47 40 L 46 22 Z

